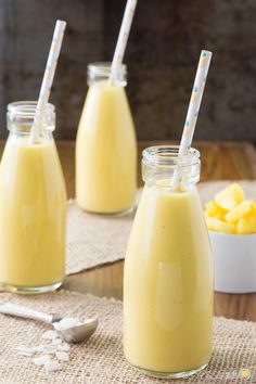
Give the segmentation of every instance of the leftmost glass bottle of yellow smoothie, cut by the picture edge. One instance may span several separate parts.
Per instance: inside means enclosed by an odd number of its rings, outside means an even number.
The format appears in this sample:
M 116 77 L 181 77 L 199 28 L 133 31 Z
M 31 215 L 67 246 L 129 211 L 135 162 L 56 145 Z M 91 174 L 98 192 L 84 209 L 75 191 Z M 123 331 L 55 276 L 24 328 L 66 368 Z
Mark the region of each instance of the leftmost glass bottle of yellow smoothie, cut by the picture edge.
M 8 105 L 9 138 L 0 165 L 0 283 L 8 291 L 53 291 L 65 276 L 66 191 L 52 131 L 55 112 L 41 113 L 31 143 L 36 102 Z

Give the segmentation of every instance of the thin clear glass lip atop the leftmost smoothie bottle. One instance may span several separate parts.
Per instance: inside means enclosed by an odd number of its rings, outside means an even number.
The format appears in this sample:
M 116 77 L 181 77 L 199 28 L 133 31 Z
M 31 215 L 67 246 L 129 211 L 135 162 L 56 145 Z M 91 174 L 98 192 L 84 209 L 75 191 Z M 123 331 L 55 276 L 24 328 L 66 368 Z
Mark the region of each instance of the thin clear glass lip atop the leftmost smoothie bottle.
M 37 108 L 37 101 L 14 101 L 8 104 L 8 112 L 21 117 L 34 117 Z M 53 113 L 55 106 L 47 103 L 41 110 L 42 113 Z

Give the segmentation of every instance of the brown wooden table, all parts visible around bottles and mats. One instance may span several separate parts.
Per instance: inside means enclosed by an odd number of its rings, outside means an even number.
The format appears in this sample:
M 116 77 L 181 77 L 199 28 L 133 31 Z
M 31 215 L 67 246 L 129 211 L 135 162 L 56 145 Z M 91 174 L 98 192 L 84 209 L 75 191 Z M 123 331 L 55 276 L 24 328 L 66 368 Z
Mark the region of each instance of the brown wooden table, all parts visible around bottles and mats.
M 155 144 L 141 142 L 141 150 Z M 157 142 L 158 144 L 158 142 Z M 202 155 L 202 181 L 256 179 L 256 152 L 249 143 L 235 142 L 197 142 L 194 144 Z M 2 152 L 3 143 L 0 145 Z M 75 144 L 74 142 L 57 142 L 57 150 L 64 170 L 69 199 L 75 195 Z M 142 185 L 140 164 L 139 185 Z M 121 298 L 123 296 L 124 261 L 117 261 L 77 273 L 66 278 L 64 287 L 69 291 L 92 293 L 99 296 Z M 256 293 L 223 294 L 215 293 L 215 315 L 241 320 L 256 321 Z

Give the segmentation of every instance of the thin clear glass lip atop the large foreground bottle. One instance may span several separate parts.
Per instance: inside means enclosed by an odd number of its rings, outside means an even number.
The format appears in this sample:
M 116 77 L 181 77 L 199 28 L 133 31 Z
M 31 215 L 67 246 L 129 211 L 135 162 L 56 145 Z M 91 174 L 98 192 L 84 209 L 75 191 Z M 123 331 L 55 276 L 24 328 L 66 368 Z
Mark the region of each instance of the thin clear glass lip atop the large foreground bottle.
M 154 145 L 142 152 L 145 165 L 185 167 L 200 162 L 200 151 L 190 148 L 188 154 L 179 156 L 179 145 Z

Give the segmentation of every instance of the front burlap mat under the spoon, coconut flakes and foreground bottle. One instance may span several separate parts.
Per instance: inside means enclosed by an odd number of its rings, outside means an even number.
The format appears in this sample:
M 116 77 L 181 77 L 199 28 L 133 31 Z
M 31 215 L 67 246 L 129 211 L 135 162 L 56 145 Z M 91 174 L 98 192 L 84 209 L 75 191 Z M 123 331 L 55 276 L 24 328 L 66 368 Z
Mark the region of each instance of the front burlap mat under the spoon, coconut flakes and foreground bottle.
M 214 354 L 208 368 L 187 380 L 154 380 L 131 368 L 123 356 L 120 302 L 65 291 L 30 297 L 0 293 L 0 302 L 7 300 L 63 316 L 98 316 L 100 325 L 87 343 L 72 346 L 71 360 L 62 371 L 47 373 L 30 357 L 18 356 L 15 347 L 40 344 L 49 325 L 0 315 L 1 384 L 242 383 L 239 377 L 242 368 L 252 370 L 246 383 L 256 380 L 256 323 L 253 322 L 215 318 Z

